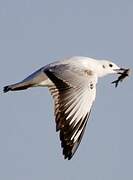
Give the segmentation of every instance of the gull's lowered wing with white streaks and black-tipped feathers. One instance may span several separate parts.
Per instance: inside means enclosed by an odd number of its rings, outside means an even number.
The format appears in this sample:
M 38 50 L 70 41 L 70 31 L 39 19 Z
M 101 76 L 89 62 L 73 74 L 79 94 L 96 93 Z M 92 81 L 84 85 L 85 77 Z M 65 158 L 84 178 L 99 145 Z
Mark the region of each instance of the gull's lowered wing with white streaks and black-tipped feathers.
M 60 131 L 63 155 L 71 159 L 95 100 L 97 77 L 88 70 L 72 71 L 67 65 L 46 69 L 45 73 L 54 83 L 49 90 L 54 98 L 56 130 Z

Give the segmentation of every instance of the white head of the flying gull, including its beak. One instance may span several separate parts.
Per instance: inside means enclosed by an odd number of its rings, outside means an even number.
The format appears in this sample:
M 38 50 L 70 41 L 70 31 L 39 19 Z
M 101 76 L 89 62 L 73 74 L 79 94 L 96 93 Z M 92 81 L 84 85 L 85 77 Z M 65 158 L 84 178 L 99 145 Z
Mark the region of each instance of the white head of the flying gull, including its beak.
M 119 74 L 124 71 L 115 63 L 107 60 L 94 60 L 93 70 L 97 73 L 98 77 L 102 77 L 108 74 Z

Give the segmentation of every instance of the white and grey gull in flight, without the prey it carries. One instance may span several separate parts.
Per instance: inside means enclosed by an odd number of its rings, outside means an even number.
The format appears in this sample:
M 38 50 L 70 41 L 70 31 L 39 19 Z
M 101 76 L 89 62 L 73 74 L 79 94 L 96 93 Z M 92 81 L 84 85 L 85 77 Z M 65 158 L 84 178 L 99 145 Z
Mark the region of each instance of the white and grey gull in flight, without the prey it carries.
M 3 92 L 47 87 L 54 100 L 56 131 L 62 154 L 70 160 L 82 140 L 96 98 L 98 79 L 122 74 L 125 69 L 109 60 L 73 56 L 52 62 L 24 80 L 5 86 Z

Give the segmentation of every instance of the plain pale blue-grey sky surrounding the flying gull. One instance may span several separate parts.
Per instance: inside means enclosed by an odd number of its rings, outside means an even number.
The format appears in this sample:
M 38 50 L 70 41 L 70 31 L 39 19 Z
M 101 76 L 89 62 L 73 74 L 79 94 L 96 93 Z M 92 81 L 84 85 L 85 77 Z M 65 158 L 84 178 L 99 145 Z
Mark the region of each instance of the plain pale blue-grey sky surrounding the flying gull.
M 132 180 L 132 76 L 101 79 L 83 140 L 64 160 L 46 88 L 2 93 L 73 55 L 133 68 L 132 0 L 0 0 L 0 179 Z

